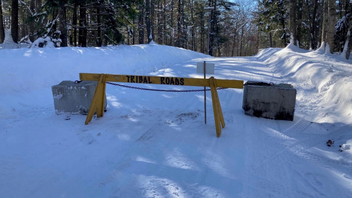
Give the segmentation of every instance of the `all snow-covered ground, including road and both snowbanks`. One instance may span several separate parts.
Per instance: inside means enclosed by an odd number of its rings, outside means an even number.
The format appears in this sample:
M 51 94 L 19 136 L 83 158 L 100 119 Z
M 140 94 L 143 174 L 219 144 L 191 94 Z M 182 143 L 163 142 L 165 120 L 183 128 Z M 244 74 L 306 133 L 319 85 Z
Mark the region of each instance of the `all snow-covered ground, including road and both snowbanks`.
M 113 85 L 104 117 L 55 114 L 51 86 L 79 73 L 203 78 L 201 61 L 217 79 L 292 84 L 294 121 L 244 115 L 243 90 L 223 89 L 217 138 L 210 92 L 205 124 L 203 92 Z M 289 45 L 214 58 L 145 44 L 3 49 L 0 64 L 0 197 L 351 197 L 352 64 L 340 56 Z

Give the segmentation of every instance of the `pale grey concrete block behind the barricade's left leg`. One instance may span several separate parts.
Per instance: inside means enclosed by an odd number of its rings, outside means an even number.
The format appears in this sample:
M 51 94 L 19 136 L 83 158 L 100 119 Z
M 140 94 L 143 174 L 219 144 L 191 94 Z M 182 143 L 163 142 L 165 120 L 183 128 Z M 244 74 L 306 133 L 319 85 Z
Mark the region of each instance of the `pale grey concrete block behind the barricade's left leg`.
M 56 114 L 87 115 L 92 103 L 97 81 L 62 81 L 51 87 Z M 106 107 L 106 95 L 104 105 Z

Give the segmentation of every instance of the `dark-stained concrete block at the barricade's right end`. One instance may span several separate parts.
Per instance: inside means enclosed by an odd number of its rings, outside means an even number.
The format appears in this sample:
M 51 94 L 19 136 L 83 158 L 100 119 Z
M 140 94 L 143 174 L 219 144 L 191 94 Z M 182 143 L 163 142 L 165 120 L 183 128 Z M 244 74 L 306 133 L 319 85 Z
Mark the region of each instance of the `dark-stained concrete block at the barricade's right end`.
M 297 91 L 292 85 L 247 81 L 243 90 L 242 109 L 245 114 L 276 120 L 293 120 Z

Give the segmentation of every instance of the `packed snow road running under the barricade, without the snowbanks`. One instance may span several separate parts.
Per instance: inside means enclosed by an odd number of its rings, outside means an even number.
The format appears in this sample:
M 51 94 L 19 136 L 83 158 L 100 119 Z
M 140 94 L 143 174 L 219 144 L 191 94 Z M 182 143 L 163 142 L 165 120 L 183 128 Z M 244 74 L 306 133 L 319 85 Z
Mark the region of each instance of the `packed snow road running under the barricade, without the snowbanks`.
M 304 83 L 278 76 L 266 57 L 279 51 L 270 49 L 256 57 L 202 57 L 153 71 L 136 68 L 130 74 L 203 78 L 195 72 L 196 62 L 207 61 L 215 63 L 216 79 Z M 295 88 L 300 94 L 305 91 Z M 351 125 L 313 122 L 302 113 L 303 105 L 296 108 L 293 122 L 251 117 L 241 109 L 243 90 L 219 90 L 226 127 L 216 138 L 210 92 L 207 124 L 203 92 L 107 85 L 106 94 L 107 112 L 88 125 L 85 116 L 55 115 L 50 87 L 0 99 L 8 106 L 0 106 L 6 112 L 0 113 L 0 197 L 351 195 L 351 155 L 339 152 L 339 144 L 351 138 Z M 335 140 L 331 147 L 325 144 L 329 139 Z

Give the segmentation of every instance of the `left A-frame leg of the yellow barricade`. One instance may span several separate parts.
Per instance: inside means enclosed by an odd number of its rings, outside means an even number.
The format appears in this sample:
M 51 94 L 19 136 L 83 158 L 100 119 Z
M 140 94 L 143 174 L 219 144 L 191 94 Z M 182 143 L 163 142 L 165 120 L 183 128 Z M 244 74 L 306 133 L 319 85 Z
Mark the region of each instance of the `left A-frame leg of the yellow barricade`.
M 104 100 L 105 100 L 105 87 L 106 87 L 106 75 L 100 74 L 98 85 L 95 88 L 92 103 L 90 104 L 88 115 L 85 124 L 92 121 L 94 113 L 96 112 L 96 117 L 102 117 L 104 115 Z

